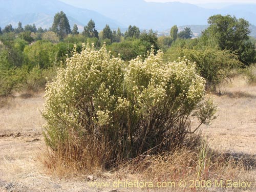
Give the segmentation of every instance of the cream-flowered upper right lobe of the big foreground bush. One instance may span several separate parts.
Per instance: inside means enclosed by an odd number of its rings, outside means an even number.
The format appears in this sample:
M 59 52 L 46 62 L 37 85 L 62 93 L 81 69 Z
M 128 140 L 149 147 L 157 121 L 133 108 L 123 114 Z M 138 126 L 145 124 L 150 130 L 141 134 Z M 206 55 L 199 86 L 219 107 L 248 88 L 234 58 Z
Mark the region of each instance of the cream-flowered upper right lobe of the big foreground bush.
M 137 57 L 130 61 L 124 81 L 131 90 L 134 108 L 140 113 L 151 113 L 159 105 L 169 106 L 165 110 L 170 112 L 193 110 L 202 99 L 205 86 L 195 68 L 195 63 L 188 60 L 165 63 L 163 52 L 154 55 L 153 50 L 145 60 Z

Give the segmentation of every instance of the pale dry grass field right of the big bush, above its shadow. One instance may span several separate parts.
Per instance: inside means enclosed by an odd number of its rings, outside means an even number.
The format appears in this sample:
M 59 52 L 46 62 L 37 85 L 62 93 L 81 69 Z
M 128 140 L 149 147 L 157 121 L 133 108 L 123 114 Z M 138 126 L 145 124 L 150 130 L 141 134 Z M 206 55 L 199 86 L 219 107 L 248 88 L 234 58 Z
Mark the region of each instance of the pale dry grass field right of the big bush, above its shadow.
M 256 86 L 243 77 L 221 87 L 221 95 L 210 95 L 218 104 L 218 118 L 201 130 L 218 151 L 256 154 Z

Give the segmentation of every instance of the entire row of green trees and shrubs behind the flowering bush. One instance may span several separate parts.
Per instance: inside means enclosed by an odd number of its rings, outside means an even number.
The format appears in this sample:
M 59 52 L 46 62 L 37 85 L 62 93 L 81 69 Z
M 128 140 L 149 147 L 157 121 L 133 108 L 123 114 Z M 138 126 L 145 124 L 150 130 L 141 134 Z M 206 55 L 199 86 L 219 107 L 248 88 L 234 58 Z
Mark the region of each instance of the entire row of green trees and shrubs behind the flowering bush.
M 249 39 L 249 23 L 245 19 L 214 15 L 208 19 L 208 23 L 209 28 L 203 31 L 202 37 L 196 39 L 190 39 L 190 28 L 178 32 L 177 26 L 172 27 L 168 36 L 160 37 L 153 30 L 141 32 L 136 26 L 129 26 L 122 33 L 120 28 L 117 31 L 111 30 L 106 25 L 98 32 L 93 20 L 79 34 L 77 25 L 70 30 L 65 13 L 59 12 L 55 15 L 50 30 L 36 29 L 35 25 L 23 28 L 22 23 L 16 29 L 11 25 L 6 26 L 4 33 L 0 35 L 0 67 L 9 72 L 1 75 L 10 76 L 8 74 L 15 74 L 14 71 L 17 72 L 17 69 L 24 66 L 27 72 L 33 71 L 34 67 L 39 67 L 39 70 L 49 69 L 60 61 L 65 61 L 67 55 L 70 56 L 73 44 L 77 45 L 77 51 L 80 52 L 82 42 L 94 43 L 96 48 L 106 42 L 106 49 L 114 56 L 120 54 L 125 61 L 136 58 L 137 55 L 145 58 L 152 46 L 155 52 L 163 50 L 165 59 L 168 60 L 186 56 L 198 63 L 201 75 L 208 79 L 209 87 L 216 90 L 221 79 L 226 77 L 224 71 L 229 71 L 237 61 L 243 63 L 243 66 L 254 63 L 256 52 L 254 42 Z M 218 78 L 217 73 L 220 74 Z

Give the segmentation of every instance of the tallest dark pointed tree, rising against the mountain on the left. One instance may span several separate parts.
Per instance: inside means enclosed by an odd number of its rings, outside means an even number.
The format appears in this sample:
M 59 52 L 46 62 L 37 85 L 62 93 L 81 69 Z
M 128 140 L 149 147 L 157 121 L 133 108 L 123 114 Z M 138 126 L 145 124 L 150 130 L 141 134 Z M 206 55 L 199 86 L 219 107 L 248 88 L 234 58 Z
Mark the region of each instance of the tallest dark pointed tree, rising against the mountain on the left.
M 58 35 L 60 40 L 71 33 L 69 19 L 63 11 L 55 14 L 52 24 L 52 31 Z

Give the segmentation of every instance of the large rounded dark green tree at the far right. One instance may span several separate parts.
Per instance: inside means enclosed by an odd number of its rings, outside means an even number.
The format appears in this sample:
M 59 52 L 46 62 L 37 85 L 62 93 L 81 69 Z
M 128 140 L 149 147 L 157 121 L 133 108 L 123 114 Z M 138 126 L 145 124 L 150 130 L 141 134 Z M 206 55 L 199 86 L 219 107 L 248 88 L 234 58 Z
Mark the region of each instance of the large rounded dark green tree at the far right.
M 220 49 L 228 49 L 235 51 L 238 54 L 238 58 L 245 64 L 254 62 L 254 57 L 249 56 L 249 59 L 245 57 L 248 55 L 247 51 L 253 54 L 253 45 L 247 41 L 249 39 L 249 22 L 243 18 L 237 19 L 235 16 L 230 15 L 214 15 L 208 18 L 208 24 L 210 25 L 202 35 L 202 39 L 207 43 L 211 39 L 217 41 Z M 254 47 L 255 49 L 255 47 Z M 250 55 L 249 54 L 249 55 Z

